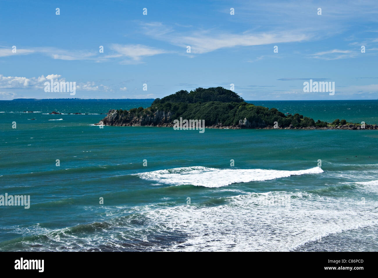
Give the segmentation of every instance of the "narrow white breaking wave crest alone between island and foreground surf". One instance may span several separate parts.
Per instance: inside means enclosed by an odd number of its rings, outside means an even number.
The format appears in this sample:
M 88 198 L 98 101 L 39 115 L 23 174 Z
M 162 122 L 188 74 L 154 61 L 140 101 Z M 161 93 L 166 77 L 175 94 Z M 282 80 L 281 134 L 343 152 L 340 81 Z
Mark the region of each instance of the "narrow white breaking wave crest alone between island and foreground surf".
M 142 179 L 182 185 L 191 184 L 205 187 L 220 187 L 232 183 L 273 180 L 291 175 L 319 174 L 319 167 L 299 171 L 268 169 L 216 169 L 202 166 L 182 167 L 137 174 Z

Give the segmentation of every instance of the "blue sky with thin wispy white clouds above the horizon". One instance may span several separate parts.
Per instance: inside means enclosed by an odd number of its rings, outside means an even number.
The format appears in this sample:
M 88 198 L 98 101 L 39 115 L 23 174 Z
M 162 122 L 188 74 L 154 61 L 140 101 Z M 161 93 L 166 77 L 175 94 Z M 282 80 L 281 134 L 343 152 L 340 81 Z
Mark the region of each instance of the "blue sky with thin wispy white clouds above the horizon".
M 377 23 L 376 1 L 0 0 L 0 100 L 231 84 L 246 100 L 378 99 Z M 335 93 L 304 92 L 310 79 Z

